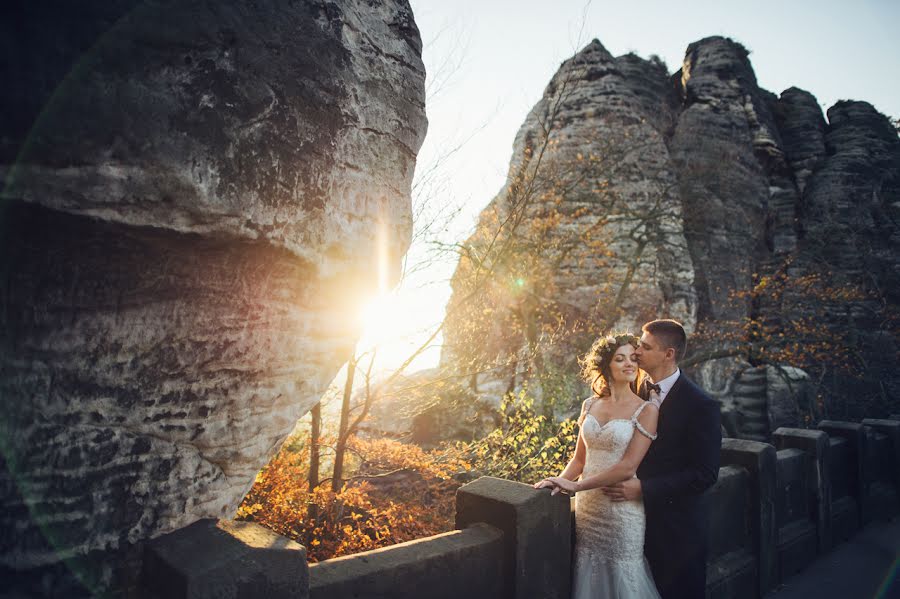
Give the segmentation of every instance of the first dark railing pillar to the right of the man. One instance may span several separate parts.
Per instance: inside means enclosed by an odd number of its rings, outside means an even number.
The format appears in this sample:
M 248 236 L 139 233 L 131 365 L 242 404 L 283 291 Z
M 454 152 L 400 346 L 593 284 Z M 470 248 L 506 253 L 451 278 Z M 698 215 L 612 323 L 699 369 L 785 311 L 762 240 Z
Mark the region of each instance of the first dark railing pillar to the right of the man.
M 759 566 L 758 595 L 762 597 L 778 580 L 775 448 L 757 441 L 723 439 L 722 466 L 740 466 L 750 475 L 750 532 Z

